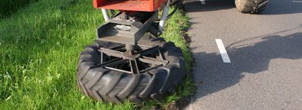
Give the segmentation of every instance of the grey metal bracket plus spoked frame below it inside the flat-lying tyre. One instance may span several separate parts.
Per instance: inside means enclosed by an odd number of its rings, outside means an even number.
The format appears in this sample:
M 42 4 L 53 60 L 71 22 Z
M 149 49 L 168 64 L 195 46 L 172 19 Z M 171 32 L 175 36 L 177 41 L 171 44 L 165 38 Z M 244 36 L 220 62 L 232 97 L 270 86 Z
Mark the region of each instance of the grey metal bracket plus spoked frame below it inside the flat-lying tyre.
M 163 33 L 163 28 L 166 23 L 166 20 L 172 15 L 169 15 L 170 8 L 170 0 L 166 3 L 166 6 L 163 8 L 163 13 L 161 15 L 161 19 L 158 21 L 159 11 L 152 12 L 152 15 L 148 16 L 145 21 L 139 21 L 133 17 L 131 12 L 119 12 L 114 15 L 114 17 L 110 18 L 106 9 L 102 9 L 103 17 L 106 21 L 105 24 L 100 26 L 97 29 L 97 37 L 101 41 L 105 42 L 114 42 L 121 45 L 114 46 L 111 48 L 99 48 L 99 52 L 101 53 L 101 62 L 98 66 L 102 66 L 104 68 L 120 71 L 123 73 L 144 73 L 146 71 L 150 71 L 153 68 L 157 68 L 159 66 L 164 66 L 168 64 L 161 55 L 159 46 L 141 46 L 139 48 L 143 49 L 141 51 L 137 51 L 138 41 L 145 35 L 145 33 L 150 33 L 155 37 L 158 37 Z M 142 15 L 144 15 L 143 13 Z M 150 13 L 149 13 L 150 14 Z M 145 17 L 145 15 L 144 15 Z M 153 25 L 154 23 L 158 24 L 158 26 Z M 149 35 L 150 35 L 149 34 Z M 123 50 L 123 51 L 121 51 Z M 154 57 L 148 57 L 148 55 L 152 55 L 156 53 L 159 55 L 159 59 Z M 110 57 L 115 57 L 114 59 L 109 59 L 105 61 L 105 55 Z M 130 68 L 128 70 L 123 69 L 121 64 L 129 64 Z M 139 64 L 143 65 L 143 69 L 139 68 Z M 125 65 L 124 65 L 125 66 Z M 129 71 L 130 69 L 130 71 Z

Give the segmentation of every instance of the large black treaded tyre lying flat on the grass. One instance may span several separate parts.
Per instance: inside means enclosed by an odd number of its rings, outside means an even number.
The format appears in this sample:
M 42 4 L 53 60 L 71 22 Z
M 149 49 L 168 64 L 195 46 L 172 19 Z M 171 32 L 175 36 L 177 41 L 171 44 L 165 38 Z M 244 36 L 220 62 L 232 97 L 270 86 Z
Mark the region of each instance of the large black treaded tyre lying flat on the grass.
M 82 93 L 105 102 L 118 104 L 129 99 L 141 105 L 143 100 L 159 101 L 162 95 L 174 91 L 186 73 L 181 49 L 172 42 L 166 43 L 160 37 L 144 37 L 139 40 L 139 44 L 159 45 L 162 55 L 169 63 L 139 74 L 111 71 L 96 66 L 100 63 L 98 48 L 109 48 L 117 44 L 96 39 L 93 45 L 87 46 L 85 51 L 80 53 L 76 76 Z

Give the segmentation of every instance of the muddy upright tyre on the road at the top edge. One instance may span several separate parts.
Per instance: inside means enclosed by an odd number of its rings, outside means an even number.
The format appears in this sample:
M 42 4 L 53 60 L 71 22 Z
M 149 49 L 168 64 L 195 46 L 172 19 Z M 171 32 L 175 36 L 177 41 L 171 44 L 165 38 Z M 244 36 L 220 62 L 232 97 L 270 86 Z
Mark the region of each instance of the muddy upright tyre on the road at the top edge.
M 242 13 L 259 14 L 269 0 L 235 0 L 236 8 Z

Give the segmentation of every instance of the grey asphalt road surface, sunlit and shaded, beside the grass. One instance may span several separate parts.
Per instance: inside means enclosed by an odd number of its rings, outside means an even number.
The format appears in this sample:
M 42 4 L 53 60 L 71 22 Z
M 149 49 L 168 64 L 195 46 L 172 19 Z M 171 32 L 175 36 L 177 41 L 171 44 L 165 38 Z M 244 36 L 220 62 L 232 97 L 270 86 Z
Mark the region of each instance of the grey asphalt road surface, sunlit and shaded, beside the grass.
M 197 83 L 185 109 L 302 109 L 302 0 L 271 0 L 261 15 L 241 14 L 234 0 L 189 0 L 184 9 Z

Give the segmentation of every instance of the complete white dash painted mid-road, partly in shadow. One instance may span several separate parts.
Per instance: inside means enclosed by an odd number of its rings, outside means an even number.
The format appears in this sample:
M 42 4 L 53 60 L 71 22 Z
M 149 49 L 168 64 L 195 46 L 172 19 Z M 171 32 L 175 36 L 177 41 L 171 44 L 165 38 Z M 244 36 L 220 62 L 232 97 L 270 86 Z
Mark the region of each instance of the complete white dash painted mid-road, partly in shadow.
M 227 50 L 224 48 L 224 44 L 222 43 L 221 39 L 215 39 L 218 50 L 220 52 L 220 55 L 222 57 L 222 61 L 225 63 L 231 63 L 231 59 L 227 53 Z

